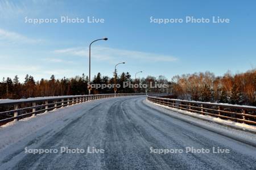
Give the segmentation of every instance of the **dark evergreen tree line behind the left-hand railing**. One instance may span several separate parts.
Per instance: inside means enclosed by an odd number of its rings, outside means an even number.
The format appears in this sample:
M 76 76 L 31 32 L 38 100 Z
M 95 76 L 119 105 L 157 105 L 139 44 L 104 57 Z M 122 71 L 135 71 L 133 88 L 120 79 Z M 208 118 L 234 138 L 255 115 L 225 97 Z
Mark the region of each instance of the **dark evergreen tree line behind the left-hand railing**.
M 117 83 L 123 84 L 123 82 L 139 83 L 139 80 L 131 79 L 129 73 L 122 73 L 116 76 Z M 148 79 L 155 81 L 155 78 L 148 76 Z M 56 79 L 55 75 L 52 75 L 49 80 L 41 79 L 36 81 L 32 75 L 26 75 L 24 82 L 20 82 L 16 75 L 14 79 L 3 78 L 0 83 L 0 99 L 21 99 L 28 97 L 38 96 L 64 96 L 64 95 L 86 95 L 88 94 L 88 76 L 82 74 L 82 76 L 75 76 L 74 78 L 61 78 Z M 114 84 L 114 78 L 109 76 L 102 76 L 98 73 L 94 76 L 91 84 Z M 118 93 L 133 93 L 144 92 L 141 88 L 118 88 Z M 110 94 L 113 93 L 113 88 L 95 89 L 93 88 L 91 94 Z M 148 91 L 149 92 L 149 91 Z

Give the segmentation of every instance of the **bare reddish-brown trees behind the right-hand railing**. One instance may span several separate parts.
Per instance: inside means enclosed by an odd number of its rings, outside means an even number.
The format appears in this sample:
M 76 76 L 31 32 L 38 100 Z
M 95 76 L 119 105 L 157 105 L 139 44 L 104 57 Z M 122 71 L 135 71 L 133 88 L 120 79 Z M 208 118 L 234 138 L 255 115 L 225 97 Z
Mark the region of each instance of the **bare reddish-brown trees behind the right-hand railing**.
M 224 76 L 213 73 L 177 75 L 172 78 L 177 96 L 184 100 L 256 105 L 256 70 Z

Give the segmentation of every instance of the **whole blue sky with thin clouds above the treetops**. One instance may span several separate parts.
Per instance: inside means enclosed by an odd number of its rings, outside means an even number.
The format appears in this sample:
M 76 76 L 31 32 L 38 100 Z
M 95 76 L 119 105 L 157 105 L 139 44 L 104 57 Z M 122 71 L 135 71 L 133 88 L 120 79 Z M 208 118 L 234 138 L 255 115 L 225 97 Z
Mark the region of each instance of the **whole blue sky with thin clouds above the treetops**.
M 223 75 L 256 67 L 255 1 L 0 1 L 0 77 L 26 74 L 35 79 L 129 71 L 139 76 L 211 71 Z M 57 23 L 25 23 L 58 19 Z M 60 23 L 61 16 L 85 23 Z M 87 23 L 87 17 L 104 23 Z M 209 18 L 230 23 L 150 23 L 153 18 Z

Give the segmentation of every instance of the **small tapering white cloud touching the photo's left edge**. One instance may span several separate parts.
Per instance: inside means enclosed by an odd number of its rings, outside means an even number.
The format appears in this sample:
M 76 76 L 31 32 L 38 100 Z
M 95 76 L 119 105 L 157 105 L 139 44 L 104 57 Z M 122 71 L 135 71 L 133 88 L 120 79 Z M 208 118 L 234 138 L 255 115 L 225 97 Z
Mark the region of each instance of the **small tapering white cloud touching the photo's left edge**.
M 27 36 L 0 28 L 0 40 L 11 43 L 37 43 L 42 40 L 30 39 Z

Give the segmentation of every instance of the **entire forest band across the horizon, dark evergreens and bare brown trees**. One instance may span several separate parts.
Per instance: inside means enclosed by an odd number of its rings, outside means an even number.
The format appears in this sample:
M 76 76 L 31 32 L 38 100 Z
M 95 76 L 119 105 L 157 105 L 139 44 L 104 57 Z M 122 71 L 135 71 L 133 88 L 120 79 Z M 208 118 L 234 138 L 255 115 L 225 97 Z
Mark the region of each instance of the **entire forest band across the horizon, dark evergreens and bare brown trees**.
M 24 82 L 18 76 L 14 79 L 3 78 L 0 83 L 0 99 L 20 99 L 38 96 L 86 95 L 88 76 L 82 74 L 74 78 L 56 79 L 54 75 L 49 80 L 35 81 L 33 76 L 26 75 Z M 165 83 L 168 88 L 147 88 L 147 92 L 170 92 L 178 99 L 207 101 L 217 103 L 256 105 L 256 70 L 246 73 L 215 76 L 213 73 L 194 73 L 176 75 L 171 81 L 164 76 L 156 78 L 147 76 L 142 79 L 131 79 L 129 73 L 117 76 L 117 83 L 123 82 L 155 84 Z M 114 84 L 114 78 L 98 73 L 92 80 L 93 84 Z M 144 88 L 118 88 L 118 93 L 146 92 Z M 113 88 L 92 90 L 92 94 L 113 93 Z

